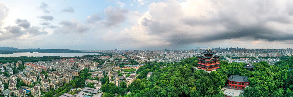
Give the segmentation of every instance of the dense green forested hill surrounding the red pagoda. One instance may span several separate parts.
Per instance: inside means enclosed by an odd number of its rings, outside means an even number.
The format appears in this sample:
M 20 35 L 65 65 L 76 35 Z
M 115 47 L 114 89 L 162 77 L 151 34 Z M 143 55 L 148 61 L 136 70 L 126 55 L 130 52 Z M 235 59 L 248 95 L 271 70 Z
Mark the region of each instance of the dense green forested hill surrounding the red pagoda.
M 126 97 L 220 97 L 224 95 L 219 91 L 227 84 L 226 79 L 230 75 L 249 77 L 251 84 L 244 90 L 244 97 L 293 96 L 293 70 L 261 62 L 253 63 L 255 71 L 252 72 L 243 67 L 245 63 L 220 61 L 221 69 L 207 73 L 204 70 L 193 71 L 192 66 L 197 66 L 198 62 L 196 59 L 192 57 L 171 64 L 147 63 L 137 70 L 140 75 L 126 89 L 132 92 Z M 164 65 L 167 66 L 160 68 Z M 148 72 L 154 73 L 147 80 Z M 102 88 L 102 91 L 115 93 L 111 89 Z

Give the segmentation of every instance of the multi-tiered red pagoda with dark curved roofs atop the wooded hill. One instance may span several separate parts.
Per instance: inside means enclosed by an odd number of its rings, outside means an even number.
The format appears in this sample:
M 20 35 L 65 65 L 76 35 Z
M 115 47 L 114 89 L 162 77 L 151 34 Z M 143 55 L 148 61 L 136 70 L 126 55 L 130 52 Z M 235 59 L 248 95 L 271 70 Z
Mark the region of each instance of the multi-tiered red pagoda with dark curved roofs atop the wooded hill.
M 205 52 L 202 52 L 204 56 L 197 56 L 198 57 L 198 68 L 203 69 L 203 70 L 216 70 L 219 69 L 219 58 L 220 56 L 213 56 L 216 54 L 215 52 L 212 52 L 209 48 Z

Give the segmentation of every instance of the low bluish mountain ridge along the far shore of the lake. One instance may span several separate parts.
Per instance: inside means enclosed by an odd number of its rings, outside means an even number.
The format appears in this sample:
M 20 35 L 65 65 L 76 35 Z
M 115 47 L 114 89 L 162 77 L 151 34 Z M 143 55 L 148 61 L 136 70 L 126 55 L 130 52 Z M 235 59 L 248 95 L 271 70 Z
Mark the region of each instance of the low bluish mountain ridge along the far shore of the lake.
M 41 49 L 41 48 L 18 49 L 18 48 L 11 48 L 11 47 L 0 47 L 0 52 L 84 53 L 82 51 L 75 51 L 70 49 Z

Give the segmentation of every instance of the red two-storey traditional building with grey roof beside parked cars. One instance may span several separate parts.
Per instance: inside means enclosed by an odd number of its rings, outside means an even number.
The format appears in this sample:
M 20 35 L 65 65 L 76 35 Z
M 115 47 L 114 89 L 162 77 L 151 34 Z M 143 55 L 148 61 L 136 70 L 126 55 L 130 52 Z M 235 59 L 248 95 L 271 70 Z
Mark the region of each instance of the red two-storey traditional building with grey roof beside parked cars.
M 231 75 L 228 79 L 228 88 L 232 89 L 245 89 L 249 86 L 250 81 L 248 77 Z

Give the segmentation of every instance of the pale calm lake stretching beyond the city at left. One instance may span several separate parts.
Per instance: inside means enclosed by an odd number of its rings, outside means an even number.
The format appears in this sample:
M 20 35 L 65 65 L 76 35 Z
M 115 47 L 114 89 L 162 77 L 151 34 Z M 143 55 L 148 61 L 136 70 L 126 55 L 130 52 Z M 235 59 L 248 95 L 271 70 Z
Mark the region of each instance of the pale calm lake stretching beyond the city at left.
M 28 56 L 28 57 L 42 57 L 42 56 L 60 56 L 60 57 L 76 57 L 76 56 L 84 56 L 84 55 L 101 55 L 100 53 L 13 53 L 8 55 L 0 54 L 0 57 L 20 57 L 20 56 Z

